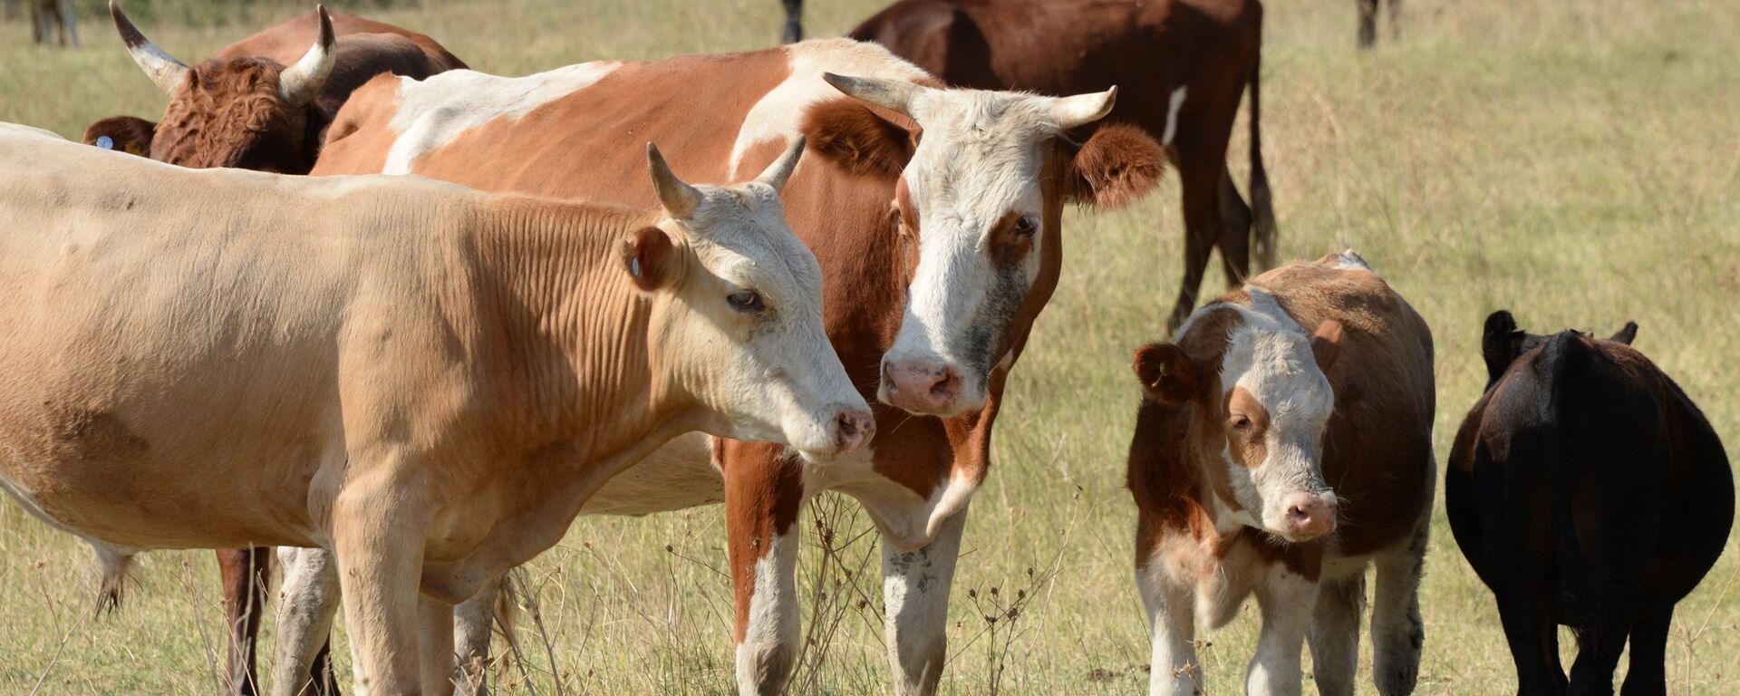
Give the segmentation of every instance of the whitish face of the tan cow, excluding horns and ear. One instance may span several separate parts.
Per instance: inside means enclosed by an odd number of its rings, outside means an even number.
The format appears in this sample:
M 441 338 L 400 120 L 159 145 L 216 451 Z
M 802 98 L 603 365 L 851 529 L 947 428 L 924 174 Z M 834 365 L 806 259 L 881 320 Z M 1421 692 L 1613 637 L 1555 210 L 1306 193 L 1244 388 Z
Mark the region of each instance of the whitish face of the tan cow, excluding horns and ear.
M 668 224 L 698 263 L 656 345 L 691 365 L 679 379 L 731 423 L 715 435 L 837 452 L 842 423 L 868 428 L 870 409 L 823 329 L 816 256 L 786 226 L 773 186 L 694 190 L 693 218 Z

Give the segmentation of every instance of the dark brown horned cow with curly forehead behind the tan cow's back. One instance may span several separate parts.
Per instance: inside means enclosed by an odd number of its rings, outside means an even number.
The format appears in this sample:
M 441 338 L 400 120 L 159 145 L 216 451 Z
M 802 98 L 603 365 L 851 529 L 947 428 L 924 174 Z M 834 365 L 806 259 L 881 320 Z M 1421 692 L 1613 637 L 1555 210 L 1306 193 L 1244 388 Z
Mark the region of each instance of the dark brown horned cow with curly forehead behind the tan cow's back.
M 111 117 L 85 144 L 183 167 L 306 174 L 332 115 L 379 73 L 465 68 L 433 38 L 318 7 L 235 42 L 195 66 L 144 38 L 113 0 L 110 14 L 139 70 L 169 94 L 164 118 Z

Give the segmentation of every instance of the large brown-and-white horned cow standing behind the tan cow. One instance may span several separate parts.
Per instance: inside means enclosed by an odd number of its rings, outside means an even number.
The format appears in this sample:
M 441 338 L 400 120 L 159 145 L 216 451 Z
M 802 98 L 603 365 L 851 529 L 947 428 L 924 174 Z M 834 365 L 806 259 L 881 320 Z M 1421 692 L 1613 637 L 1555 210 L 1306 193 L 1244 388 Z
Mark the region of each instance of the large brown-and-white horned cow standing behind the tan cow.
M 1112 106 L 1112 90 L 941 89 L 851 40 L 520 78 L 383 77 L 339 111 L 315 174 L 409 172 L 642 204 L 646 193 L 611 172 L 637 157 L 630 137 L 668 143 L 686 172 L 729 179 L 807 136 L 786 214 L 821 261 L 835 350 L 858 388 L 887 405 L 877 407 L 880 435 L 826 468 L 774 445 L 679 440 L 612 478 L 586 512 L 724 501 L 738 684 L 778 693 L 800 647 L 797 517 L 821 491 L 854 496 L 882 534 L 896 689 L 929 693 L 1002 385 L 1058 282 L 1063 205 L 1129 200 L 1161 174 L 1164 155 L 1138 129 L 1065 136 Z

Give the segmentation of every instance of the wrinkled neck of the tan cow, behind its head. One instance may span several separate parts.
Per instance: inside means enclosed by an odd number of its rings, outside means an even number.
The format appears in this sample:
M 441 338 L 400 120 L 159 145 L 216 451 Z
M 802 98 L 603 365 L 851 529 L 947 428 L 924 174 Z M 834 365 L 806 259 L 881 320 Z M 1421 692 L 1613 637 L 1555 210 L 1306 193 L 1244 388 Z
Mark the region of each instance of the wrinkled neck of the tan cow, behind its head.
M 506 355 L 487 364 L 517 392 L 510 428 L 593 461 L 682 419 L 689 398 L 651 350 L 658 299 L 614 258 L 623 235 L 658 219 L 525 197 L 496 197 L 480 212 L 478 301 L 503 334 L 496 350 Z

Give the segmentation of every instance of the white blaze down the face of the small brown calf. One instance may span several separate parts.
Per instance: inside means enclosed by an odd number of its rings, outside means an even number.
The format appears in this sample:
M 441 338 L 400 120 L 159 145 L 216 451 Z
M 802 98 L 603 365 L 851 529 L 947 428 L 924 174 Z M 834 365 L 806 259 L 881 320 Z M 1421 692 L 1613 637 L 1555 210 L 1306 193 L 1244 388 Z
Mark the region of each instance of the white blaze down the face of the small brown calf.
M 1253 306 L 1241 308 L 1246 322 L 1230 336 L 1220 372 L 1228 404 L 1227 477 L 1239 505 L 1265 531 L 1288 539 L 1302 536 L 1295 534 L 1295 505 L 1326 508 L 1333 529 L 1335 494 L 1322 478 L 1322 433 L 1335 412 L 1335 392 L 1298 322 L 1267 292 L 1249 294 Z M 1241 412 L 1256 421 L 1249 425 L 1256 442 L 1242 452 L 1235 447 Z M 1244 452 L 1260 459 L 1246 461 Z

